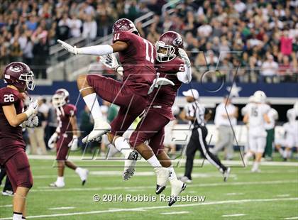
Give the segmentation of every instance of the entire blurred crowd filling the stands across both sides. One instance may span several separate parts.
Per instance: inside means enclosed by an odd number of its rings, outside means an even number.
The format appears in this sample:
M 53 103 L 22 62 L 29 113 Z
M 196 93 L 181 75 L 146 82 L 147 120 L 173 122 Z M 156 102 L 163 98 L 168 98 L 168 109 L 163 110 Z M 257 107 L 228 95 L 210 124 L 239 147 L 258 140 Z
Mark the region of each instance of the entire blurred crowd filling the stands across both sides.
M 185 0 L 162 13 L 165 0 L 1 1 L 0 65 L 23 60 L 45 78 L 49 46 L 111 33 L 118 18 L 155 12 L 140 34 L 153 43 L 177 31 L 194 66 L 194 80 L 298 81 L 298 3 L 295 0 Z M 239 66 L 239 68 L 238 68 Z M 206 70 L 208 74 L 204 74 Z

